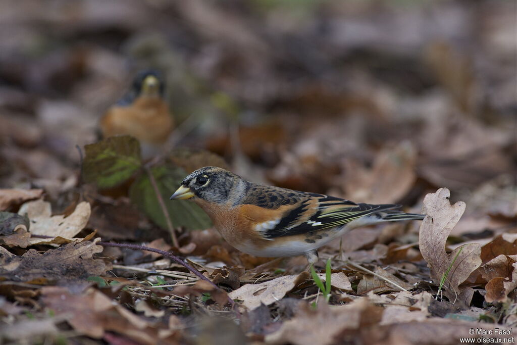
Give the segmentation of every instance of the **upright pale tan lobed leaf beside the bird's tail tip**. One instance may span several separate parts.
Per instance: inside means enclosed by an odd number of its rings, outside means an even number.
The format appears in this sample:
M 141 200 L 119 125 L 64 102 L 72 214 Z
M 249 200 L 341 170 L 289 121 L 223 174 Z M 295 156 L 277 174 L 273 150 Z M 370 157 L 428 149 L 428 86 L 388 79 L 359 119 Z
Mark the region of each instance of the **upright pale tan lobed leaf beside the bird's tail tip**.
M 419 245 L 436 284 L 440 283 L 442 276 L 451 267 L 444 289 L 446 296 L 453 302 L 463 290 L 459 285 L 481 265 L 481 246 L 472 243 L 458 247 L 450 254 L 445 251 L 447 237 L 465 211 L 464 202 L 458 201 L 451 206 L 449 197 L 447 188 L 440 188 L 436 193 L 425 196 L 422 213 L 426 216 L 420 225 Z

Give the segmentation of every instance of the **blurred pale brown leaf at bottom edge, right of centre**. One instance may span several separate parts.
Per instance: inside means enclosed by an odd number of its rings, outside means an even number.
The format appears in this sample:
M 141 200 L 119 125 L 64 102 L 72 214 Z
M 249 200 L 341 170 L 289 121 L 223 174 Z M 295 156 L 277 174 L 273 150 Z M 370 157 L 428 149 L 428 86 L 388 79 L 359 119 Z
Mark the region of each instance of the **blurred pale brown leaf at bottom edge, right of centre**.
M 368 327 L 381 321 L 382 308 L 361 298 L 351 304 L 330 308 L 318 304 L 312 309 L 305 304 L 296 316 L 285 321 L 275 333 L 265 337 L 268 344 L 325 345 L 347 343 L 347 331 Z

